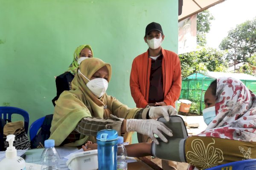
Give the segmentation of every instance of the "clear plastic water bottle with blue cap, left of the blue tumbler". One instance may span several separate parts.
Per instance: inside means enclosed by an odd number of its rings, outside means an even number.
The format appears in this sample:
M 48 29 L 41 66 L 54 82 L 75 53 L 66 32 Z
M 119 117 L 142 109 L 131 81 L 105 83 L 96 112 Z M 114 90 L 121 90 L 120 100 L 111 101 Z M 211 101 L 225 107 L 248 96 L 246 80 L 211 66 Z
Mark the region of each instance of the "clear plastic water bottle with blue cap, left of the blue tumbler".
M 53 139 L 44 141 L 44 151 L 41 156 L 41 170 L 59 170 L 60 156 L 57 153 Z

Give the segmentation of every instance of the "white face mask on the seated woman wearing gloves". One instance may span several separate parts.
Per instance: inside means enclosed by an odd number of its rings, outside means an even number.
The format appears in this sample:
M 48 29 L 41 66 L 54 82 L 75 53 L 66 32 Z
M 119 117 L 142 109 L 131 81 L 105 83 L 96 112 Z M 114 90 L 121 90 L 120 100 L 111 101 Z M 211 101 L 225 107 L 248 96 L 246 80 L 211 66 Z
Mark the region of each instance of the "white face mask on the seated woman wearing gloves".
M 84 78 L 87 79 L 87 77 L 84 76 L 84 74 L 82 74 L 80 72 L 80 70 L 78 70 L 79 74 L 81 74 Z M 89 80 L 89 79 L 87 79 Z M 108 89 L 108 81 L 106 79 L 102 79 L 102 78 L 96 78 L 96 79 L 92 79 L 89 80 L 89 82 L 87 82 L 86 86 L 90 89 L 90 91 L 97 97 L 100 98 L 101 96 L 103 96 L 103 94 L 105 94 L 105 92 Z

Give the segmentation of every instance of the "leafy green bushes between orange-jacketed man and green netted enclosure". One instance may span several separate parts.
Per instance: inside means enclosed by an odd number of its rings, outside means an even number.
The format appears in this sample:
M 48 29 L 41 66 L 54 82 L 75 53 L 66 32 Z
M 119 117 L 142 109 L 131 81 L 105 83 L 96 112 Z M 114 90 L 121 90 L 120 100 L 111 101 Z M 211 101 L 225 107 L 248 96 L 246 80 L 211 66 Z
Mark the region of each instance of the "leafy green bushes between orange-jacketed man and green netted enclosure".
M 195 71 L 226 71 L 227 62 L 223 59 L 223 56 L 224 51 L 205 47 L 198 47 L 197 51 L 180 54 L 182 77 L 186 77 Z

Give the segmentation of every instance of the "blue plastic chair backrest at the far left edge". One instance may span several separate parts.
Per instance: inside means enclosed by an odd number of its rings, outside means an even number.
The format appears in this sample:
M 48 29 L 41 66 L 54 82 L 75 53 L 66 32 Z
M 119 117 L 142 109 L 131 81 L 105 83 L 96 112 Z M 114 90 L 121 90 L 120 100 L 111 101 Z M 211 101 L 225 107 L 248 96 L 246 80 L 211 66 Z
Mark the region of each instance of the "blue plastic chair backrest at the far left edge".
M 25 132 L 28 133 L 28 129 L 29 129 L 29 113 L 28 112 L 20 108 L 15 108 L 10 106 L 0 106 L 0 114 L 4 120 L 6 119 L 12 120 L 12 114 L 14 113 L 20 114 L 21 116 L 23 116 Z

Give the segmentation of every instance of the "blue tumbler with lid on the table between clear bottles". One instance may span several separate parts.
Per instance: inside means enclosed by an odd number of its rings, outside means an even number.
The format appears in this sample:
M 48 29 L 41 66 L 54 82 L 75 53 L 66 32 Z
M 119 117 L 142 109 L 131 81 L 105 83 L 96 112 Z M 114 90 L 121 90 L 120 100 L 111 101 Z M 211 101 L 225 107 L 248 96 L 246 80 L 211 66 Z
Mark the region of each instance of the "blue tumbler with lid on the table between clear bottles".
M 99 170 L 116 170 L 117 131 L 113 129 L 100 130 L 96 138 Z

